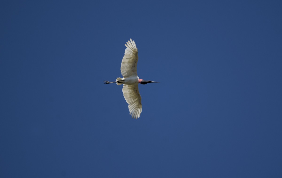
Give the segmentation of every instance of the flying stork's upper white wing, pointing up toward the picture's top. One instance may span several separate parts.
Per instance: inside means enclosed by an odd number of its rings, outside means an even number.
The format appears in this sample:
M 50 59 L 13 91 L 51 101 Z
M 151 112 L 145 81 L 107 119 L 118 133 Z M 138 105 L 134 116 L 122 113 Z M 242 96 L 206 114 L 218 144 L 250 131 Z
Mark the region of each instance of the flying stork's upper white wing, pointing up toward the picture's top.
M 120 71 L 124 78 L 137 76 L 138 50 L 136 44 L 130 38 L 130 41 L 126 42 L 125 46 L 127 48 L 124 51 Z

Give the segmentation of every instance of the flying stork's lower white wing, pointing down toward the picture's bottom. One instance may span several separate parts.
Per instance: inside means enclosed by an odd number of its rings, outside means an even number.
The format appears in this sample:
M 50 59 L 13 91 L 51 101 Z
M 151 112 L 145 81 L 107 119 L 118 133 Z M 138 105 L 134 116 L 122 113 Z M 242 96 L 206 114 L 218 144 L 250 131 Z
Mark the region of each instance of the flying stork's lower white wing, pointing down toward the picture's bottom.
M 124 84 L 122 88 L 124 99 L 128 104 L 129 114 L 132 118 L 137 119 L 142 112 L 141 96 L 138 91 L 138 83 L 135 85 Z

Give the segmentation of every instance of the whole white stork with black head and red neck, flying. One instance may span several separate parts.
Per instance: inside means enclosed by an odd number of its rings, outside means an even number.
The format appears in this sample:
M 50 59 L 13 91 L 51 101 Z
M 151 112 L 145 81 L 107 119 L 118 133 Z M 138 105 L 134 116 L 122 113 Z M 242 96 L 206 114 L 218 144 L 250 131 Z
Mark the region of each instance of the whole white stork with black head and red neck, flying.
M 133 40 L 126 42 L 127 47 L 124 51 L 124 57 L 122 58 L 122 64 L 120 71 L 124 78 L 116 78 L 115 82 L 104 81 L 104 84 L 116 83 L 117 85 L 123 85 L 122 92 L 124 99 L 128 104 L 129 114 L 132 118 L 137 119 L 142 112 L 141 96 L 138 91 L 138 84 L 147 83 L 159 83 L 150 80 L 139 79 L 137 76 L 137 62 L 138 62 L 138 50 Z

